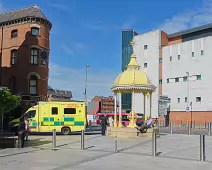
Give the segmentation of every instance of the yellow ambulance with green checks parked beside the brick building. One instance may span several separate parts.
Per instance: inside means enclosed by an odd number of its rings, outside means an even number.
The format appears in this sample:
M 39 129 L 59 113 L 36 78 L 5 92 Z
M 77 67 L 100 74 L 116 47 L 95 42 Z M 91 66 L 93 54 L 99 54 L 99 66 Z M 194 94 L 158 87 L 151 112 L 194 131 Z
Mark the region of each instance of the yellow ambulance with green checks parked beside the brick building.
M 62 132 L 68 135 L 71 132 L 85 130 L 87 126 L 87 111 L 85 102 L 39 102 L 27 110 L 21 118 L 29 119 L 31 132 Z M 10 122 L 19 124 L 20 119 Z

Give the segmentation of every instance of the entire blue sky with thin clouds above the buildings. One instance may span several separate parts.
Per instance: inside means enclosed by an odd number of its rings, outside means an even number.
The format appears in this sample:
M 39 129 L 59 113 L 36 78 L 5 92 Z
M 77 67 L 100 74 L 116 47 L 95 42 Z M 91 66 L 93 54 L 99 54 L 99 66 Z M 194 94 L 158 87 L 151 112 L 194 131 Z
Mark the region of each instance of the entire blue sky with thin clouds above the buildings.
M 0 0 L 1 12 L 37 4 L 53 24 L 50 80 L 75 99 L 112 95 L 121 72 L 121 30 L 168 33 L 212 22 L 212 0 Z

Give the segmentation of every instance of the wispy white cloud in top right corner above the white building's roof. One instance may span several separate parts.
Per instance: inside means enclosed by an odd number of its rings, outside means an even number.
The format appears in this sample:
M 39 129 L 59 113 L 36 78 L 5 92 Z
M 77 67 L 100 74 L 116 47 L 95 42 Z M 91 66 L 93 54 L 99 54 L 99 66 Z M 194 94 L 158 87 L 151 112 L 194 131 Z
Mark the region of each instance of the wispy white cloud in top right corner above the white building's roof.
M 201 26 L 212 22 L 212 0 L 203 0 L 202 5 L 194 9 L 184 10 L 166 19 L 160 29 L 167 33 L 174 33 L 192 27 Z

